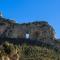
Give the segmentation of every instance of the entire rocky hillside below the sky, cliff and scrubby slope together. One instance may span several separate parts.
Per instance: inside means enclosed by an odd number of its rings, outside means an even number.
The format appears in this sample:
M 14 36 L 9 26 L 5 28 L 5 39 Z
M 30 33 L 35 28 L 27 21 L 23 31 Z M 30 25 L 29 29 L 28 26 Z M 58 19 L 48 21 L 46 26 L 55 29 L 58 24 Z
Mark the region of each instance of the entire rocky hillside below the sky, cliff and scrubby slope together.
M 0 17 L 0 60 L 60 60 L 60 41 L 46 21 L 19 24 Z

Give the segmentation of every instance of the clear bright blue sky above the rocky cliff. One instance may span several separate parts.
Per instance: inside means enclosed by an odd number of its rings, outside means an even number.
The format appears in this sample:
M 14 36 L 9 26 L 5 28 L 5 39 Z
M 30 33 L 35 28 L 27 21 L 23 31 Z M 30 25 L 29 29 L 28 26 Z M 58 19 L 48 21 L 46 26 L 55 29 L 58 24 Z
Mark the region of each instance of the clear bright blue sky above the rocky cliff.
M 19 23 L 47 21 L 60 38 L 60 0 L 0 0 L 0 11 Z

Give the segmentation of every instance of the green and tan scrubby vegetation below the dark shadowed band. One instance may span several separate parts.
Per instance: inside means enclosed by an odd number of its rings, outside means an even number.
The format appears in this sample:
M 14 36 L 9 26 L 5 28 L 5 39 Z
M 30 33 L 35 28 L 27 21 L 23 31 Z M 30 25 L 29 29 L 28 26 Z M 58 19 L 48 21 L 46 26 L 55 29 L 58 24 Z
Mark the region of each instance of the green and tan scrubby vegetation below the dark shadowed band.
M 42 46 L 28 44 L 14 45 L 5 42 L 0 45 L 0 60 L 60 60 L 60 52 Z

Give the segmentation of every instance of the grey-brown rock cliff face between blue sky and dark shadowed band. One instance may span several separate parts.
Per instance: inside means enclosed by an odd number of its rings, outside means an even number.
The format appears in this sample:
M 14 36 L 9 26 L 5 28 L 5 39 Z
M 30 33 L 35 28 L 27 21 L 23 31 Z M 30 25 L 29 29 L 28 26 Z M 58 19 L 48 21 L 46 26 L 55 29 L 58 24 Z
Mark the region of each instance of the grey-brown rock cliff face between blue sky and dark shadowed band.
M 53 39 L 55 31 L 46 21 L 18 24 L 12 20 L 0 17 L 0 37 L 26 38 L 29 34 L 30 39 Z

